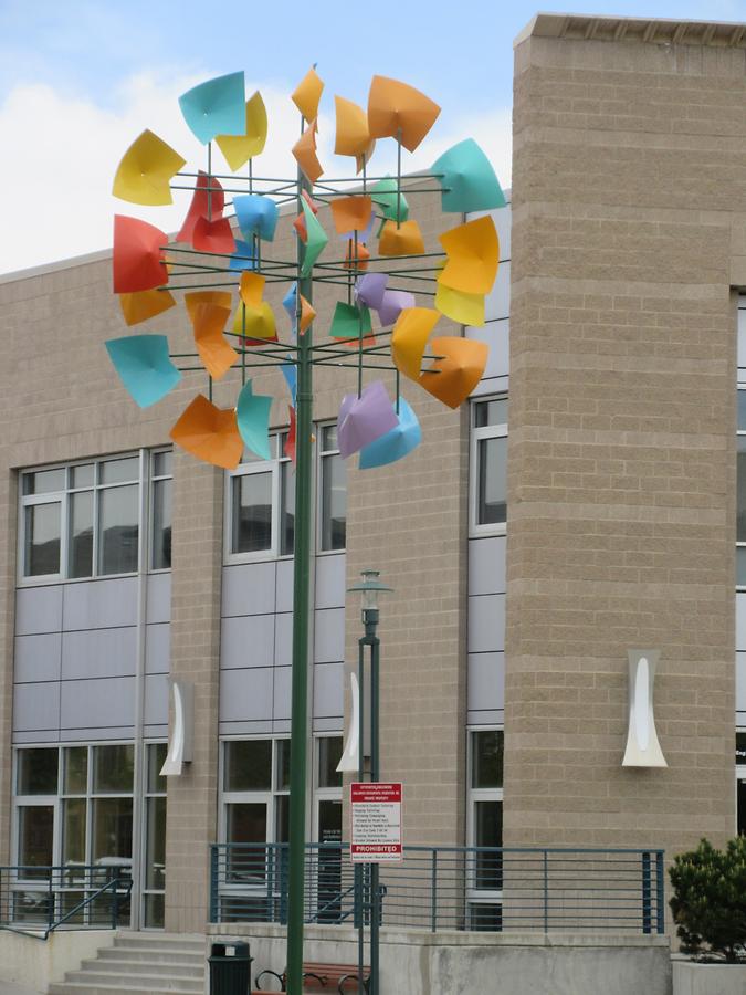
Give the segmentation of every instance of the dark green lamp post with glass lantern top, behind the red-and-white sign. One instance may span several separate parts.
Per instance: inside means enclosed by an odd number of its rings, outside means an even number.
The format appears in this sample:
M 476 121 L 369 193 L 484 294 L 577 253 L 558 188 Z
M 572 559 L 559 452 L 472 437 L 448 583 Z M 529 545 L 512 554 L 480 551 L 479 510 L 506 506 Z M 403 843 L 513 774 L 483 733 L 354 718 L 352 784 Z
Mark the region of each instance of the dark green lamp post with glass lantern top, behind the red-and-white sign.
M 378 577 L 379 570 L 365 569 L 360 572 L 363 577 L 359 584 L 348 587 L 348 593 L 360 593 L 360 608 L 363 617 L 364 635 L 358 639 L 358 683 L 360 688 L 359 699 L 359 771 L 360 781 L 365 781 L 365 661 L 366 648 L 369 647 L 370 657 L 370 781 L 378 782 L 380 777 L 380 739 L 379 739 L 379 702 L 380 702 L 380 640 L 378 638 L 378 596 L 383 591 L 392 591 L 393 588 L 381 584 Z M 363 914 L 363 866 L 355 866 L 355 884 L 358 905 L 358 976 L 363 980 L 363 951 L 365 933 L 365 915 Z M 380 924 L 380 888 L 378 881 L 378 863 L 370 865 L 370 984 L 369 995 L 378 995 L 378 952 L 379 952 L 379 924 Z

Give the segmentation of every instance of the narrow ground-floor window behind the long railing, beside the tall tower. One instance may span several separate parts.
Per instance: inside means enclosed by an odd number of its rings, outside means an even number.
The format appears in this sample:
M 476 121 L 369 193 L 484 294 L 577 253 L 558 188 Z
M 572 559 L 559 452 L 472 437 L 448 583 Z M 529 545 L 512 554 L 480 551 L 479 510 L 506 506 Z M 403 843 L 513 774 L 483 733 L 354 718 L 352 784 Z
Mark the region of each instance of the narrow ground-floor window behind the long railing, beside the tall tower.
M 503 846 L 503 731 L 469 734 L 469 842 L 472 847 Z M 503 859 L 479 850 L 467 881 L 470 929 L 502 929 Z

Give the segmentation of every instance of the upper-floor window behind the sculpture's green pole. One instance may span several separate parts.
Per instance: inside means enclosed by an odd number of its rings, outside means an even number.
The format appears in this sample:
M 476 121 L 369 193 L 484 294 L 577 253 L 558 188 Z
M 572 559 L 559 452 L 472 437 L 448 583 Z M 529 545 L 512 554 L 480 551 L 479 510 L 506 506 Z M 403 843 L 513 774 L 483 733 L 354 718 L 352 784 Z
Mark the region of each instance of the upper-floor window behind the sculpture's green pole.
M 295 467 L 285 455 L 287 432 L 270 439 L 271 458 L 246 452 L 227 476 L 225 559 L 292 556 L 295 541 Z M 318 549 L 345 548 L 347 471 L 336 426 L 321 426 L 318 440 Z

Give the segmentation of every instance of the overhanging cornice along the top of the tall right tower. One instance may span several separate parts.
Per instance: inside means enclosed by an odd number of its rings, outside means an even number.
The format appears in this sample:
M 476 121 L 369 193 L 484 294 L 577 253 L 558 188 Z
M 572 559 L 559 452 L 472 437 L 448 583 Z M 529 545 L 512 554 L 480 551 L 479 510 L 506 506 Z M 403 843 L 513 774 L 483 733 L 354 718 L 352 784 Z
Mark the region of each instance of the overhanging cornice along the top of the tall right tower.
M 679 21 L 665 18 L 538 13 L 515 39 L 514 48 L 528 38 L 746 49 L 746 24 L 724 21 Z

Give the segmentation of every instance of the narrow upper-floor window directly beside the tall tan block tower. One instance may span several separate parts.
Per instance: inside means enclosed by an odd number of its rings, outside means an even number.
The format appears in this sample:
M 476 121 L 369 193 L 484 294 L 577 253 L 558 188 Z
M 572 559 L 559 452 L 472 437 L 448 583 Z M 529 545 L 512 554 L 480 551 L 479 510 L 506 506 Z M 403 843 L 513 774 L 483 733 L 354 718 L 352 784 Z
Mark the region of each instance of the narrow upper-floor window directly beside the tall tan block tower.
M 507 398 L 472 404 L 472 532 L 500 533 L 507 519 Z

